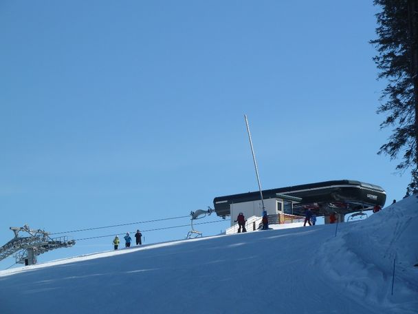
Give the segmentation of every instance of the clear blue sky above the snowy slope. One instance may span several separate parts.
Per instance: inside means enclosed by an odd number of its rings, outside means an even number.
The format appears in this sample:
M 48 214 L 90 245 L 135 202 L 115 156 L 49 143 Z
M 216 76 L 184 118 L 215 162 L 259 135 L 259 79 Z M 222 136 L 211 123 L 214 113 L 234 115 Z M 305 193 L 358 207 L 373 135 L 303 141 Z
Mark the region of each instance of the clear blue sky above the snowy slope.
M 244 114 L 263 189 L 351 179 L 382 186 L 386 205 L 402 198 L 408 174 L 376 154 L 390 130 L 375 113 L 375 12 L 371 0 L 1 1 L 0 245 L 25 223 L 58 232 L 187 216 L 255 191 Z

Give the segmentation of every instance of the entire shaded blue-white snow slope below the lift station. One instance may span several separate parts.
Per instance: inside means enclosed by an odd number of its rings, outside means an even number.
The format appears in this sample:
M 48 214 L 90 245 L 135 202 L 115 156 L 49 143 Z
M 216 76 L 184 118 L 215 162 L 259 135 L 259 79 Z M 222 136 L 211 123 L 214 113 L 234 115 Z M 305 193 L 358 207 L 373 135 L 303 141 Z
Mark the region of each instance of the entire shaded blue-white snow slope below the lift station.
M 0 313 L 418 313 L 417 226 L 411 196 L 359 222 L 0 271 Z

